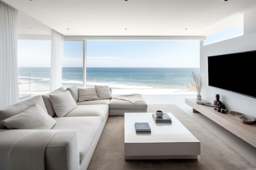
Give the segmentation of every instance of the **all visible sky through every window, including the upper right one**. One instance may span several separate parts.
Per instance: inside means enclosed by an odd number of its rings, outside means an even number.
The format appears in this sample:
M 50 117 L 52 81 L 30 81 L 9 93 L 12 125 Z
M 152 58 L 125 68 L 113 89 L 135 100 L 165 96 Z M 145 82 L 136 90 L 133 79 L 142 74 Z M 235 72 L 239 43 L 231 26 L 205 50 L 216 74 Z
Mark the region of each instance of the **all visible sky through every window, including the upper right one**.
M 207 36 L 204 45 L 243 35 L 243 23 Z M 200 67 L 200 41 L 90 40 L 87 67 Z M 50 40 L 19 40 L 19 67 L 50 67 Z M 83 66 L 83 42 L 65 41 L 64 67 Z

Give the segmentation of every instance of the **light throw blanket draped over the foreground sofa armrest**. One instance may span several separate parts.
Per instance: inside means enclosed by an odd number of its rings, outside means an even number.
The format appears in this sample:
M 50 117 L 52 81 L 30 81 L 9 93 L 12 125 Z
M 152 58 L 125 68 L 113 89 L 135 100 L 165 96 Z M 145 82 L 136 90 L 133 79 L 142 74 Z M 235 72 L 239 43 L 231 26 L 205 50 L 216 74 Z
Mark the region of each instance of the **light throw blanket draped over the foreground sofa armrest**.
M 45 170 L 45 148 L 58 130 L 35 130 L 12 146 L 9 170 Z

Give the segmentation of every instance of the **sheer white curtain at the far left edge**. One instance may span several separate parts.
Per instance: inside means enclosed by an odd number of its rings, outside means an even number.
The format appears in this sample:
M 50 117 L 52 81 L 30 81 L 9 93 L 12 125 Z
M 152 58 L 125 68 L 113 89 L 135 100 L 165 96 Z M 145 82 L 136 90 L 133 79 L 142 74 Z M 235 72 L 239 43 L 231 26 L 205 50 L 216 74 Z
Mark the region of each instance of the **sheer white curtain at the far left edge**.
M 19 102 L 18 10 L 0 1 L 0 108 Z

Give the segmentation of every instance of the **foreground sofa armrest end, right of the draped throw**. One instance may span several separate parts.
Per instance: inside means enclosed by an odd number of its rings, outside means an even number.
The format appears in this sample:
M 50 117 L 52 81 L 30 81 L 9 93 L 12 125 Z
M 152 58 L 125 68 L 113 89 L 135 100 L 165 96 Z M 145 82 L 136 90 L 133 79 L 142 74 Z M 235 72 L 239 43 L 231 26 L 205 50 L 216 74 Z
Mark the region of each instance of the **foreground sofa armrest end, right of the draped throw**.
M 77 130 L 59 130 L 45 150 L 45 170 L 81 170 Z

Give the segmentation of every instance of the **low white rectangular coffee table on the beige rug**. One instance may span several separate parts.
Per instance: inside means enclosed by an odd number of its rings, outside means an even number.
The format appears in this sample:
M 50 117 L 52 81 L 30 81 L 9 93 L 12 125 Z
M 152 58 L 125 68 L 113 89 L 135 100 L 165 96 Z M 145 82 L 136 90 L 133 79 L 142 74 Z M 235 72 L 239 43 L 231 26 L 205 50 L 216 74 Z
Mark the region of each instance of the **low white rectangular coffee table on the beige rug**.
M 198 159 L 200 141 L 171 113 L 172 123 L 155 123 L 152 113 L 124 113 L 124 158 Z M 135 122 L 148 122 L 151 133 L 136 133 Z

